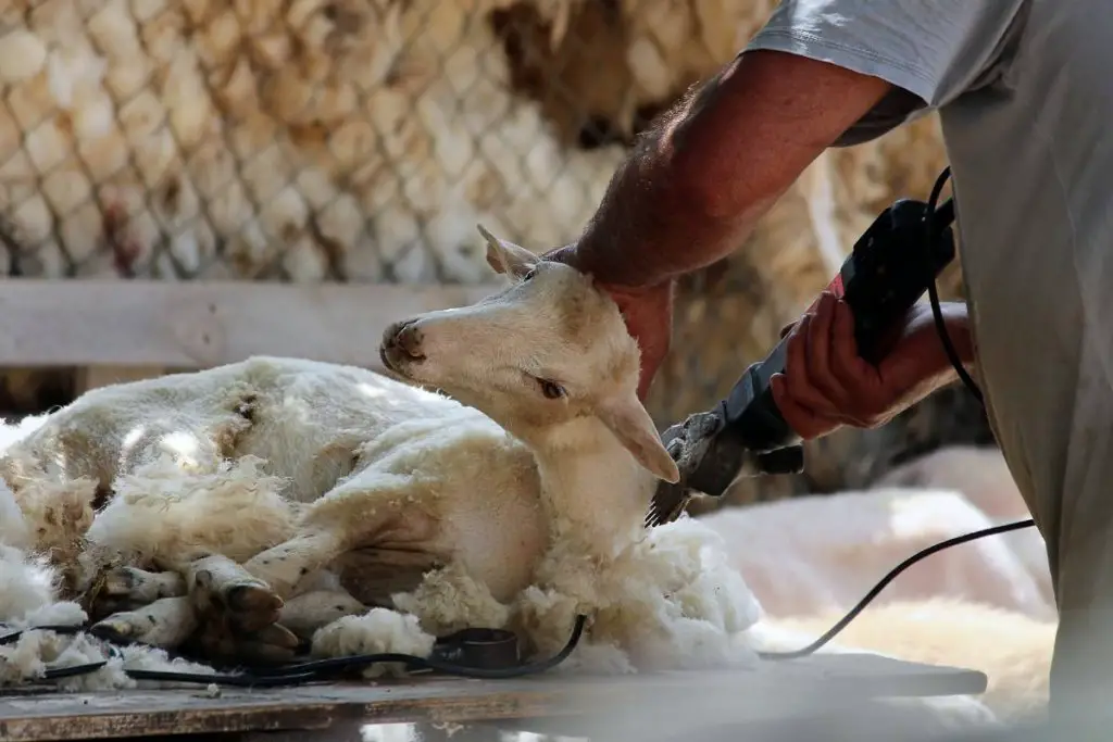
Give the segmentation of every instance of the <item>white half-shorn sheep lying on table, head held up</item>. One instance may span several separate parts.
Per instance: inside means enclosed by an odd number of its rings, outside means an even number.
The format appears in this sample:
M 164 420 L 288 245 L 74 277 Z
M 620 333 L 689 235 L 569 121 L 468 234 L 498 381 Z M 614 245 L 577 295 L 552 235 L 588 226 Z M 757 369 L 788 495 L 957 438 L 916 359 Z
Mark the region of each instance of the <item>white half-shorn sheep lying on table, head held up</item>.
M 689 629 L 693 646 L 701 631 L 745 629 L 751 596 L 737 575 L 716 571 L 723 565 L 707 564 L 699 534 L 680 524 L 642 538 L 654 477 L 676 479 L 677 469 L 637 398 L 638 349 L 617 308 L 571 268 L 489 239 L 492 265 L 515 278 L 506 291 L 384 336 L 388 367 L 431 384 L 431 366 L 415 358 L 416 334 L 427 344 L 433 328 L 450 327 L 442 342 L 456 354 L 463 346 L 452 345 L 452 323 L 471 318 L 470 353 L 440 359 L 439 352 L 435 383 L 455 399 L 371 372 L 254 359 L 90 392 L 10 448 L 0 471 L 24 512 L 46 508 L 59 488 L 86 506 L 108 503 L 85 537 L 122 558 L 125 572 L 85 574 L 77 588 L 101 580 L 114 601 L 158 596 L 105 617 L 97 631 L 161 646 L 199 632 L 206 656 L 280 656 L 296 636 L 279 620 L 306 581 L 336 565 L 342 583 L 361 575 L 338 604 L 401 605 L 434 632 L 513 615 L 538 651 L 562 644 L 585 606 L 600 610 L 593 635 L 621 643 L 623 606 L 608 605 L 608 590 L 646 604 L 650 617 L 637 626 L 646 636 L 660 632 L 653 621 Z M 536 277 L 526 278 L 533 268 Z M 511 358 L 546 364 L 536 378 L 483 366 L 499 356 L 482 343 L 512 332 L 536 344 L 544 318 L 558 323 L 548 347 L 521 347 Z M 559 379 L 540 376 L 558 370 Z M 245 492 L 248 482 L 256 492 Z M 233 521 L 248 499 L 249 512 Z M 82 527 L 80 517 L 70 522 Z M 66 552 L 63 535 L 42 541 Z M 622 587 L 653 560 L 668 572 Z M 612 578 L 600 574 L 607 563 L 619 565 Z M 183 580 L 155 586 L 151 571 Z M 716 577 L 722 595 L 682 615 L 681 602 L 691 610 L 699 600 L 691 583 Z M 471 600 L 437 598 L 461 593 Z M 167 619 L 187 605 L 196 624 Z M 304 634 L 322 622 L 302 623 Z M 316 636 L 328 644 L 335 632 Z M 743 650 L 738 656 L 751 659 Z

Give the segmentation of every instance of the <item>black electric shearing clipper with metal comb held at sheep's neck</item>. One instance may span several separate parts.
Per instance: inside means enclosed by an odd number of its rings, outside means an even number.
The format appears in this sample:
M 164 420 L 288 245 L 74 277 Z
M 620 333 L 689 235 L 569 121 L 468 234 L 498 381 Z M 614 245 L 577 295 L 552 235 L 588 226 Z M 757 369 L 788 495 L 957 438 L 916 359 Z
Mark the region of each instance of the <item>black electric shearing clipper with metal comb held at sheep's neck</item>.
M 858 239 L 828 285 L 854 314 L 864 359 L 876 364 L 884 357 L 886 333 L 954 259 L 953 210 L 951 200 L 938 210 L 922 201 L 896 201 Z M 680 481 L 659 485 L 647 525 L 679 517 L 692 492 L 719 497 L 741 476 L 804 471 L 800 437 L 781 417 L 769 387 L 770 377 L 785 370 L 786 346 L 784 338 L 765 360 L 747 368 L 712 409 L 690 415 L 662 434 Z

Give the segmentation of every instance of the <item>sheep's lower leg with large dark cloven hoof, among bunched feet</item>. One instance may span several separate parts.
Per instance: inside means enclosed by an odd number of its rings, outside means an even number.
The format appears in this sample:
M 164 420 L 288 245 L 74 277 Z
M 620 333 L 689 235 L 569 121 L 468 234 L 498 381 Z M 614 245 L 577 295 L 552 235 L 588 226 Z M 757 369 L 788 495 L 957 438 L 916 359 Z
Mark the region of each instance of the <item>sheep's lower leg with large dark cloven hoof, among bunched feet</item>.
M 226 556 L 198 558 L 186 566 L 189 601 L 200 630 L 199 651 L 216 661 L 282 662 L 299 641 L 277 623 L 283 600 L 265 582 Z

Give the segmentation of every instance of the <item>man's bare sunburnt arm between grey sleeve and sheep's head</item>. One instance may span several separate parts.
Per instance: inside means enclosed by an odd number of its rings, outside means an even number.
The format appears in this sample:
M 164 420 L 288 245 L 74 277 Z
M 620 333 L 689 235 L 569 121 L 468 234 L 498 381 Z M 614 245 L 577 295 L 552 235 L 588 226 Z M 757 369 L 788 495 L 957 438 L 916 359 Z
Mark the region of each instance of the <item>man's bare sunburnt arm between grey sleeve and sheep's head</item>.
M 649 286 L 726 257 L 888 89 L 802 57 L 740 56 L 640 138 L 577 265 L 604 284 Z

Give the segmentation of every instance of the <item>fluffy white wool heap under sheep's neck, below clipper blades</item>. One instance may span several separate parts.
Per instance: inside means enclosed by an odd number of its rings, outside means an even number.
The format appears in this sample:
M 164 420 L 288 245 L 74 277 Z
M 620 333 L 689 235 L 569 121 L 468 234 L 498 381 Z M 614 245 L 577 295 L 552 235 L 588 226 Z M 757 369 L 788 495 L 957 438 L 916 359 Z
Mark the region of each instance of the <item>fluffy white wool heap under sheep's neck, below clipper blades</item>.
M 518 610 L 529 635 L 553 654 L 582 607 L 597 609 L 569 669 L 661 670 L 752 666 L 745 632 L 760 617 L 721 538 L 682 518 L 652 530 L 609 563 L 554 548 L 539 568 L 550 587 L 529 587 Z

